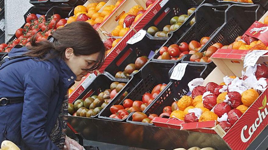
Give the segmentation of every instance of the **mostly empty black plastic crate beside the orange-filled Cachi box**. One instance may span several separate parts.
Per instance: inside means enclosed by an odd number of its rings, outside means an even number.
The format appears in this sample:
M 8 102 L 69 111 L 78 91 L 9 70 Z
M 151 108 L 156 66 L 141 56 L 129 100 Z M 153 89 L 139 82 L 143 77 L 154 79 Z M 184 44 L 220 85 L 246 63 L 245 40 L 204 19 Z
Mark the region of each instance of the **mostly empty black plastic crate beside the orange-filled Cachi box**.
M 170 71 L 170 73 L 173 69 Z M 182 98 L 183 95 L 189 93 L 188 83 L 195 78 L 205 79 L 210 73 L 210 70 L 207 68 L 207 65 L 198 65 L 198 64 L 188 64 L 185 70 L 185 74 L 182 80 L 172 80 L 174 81 L 165 88 L 164 92 L 157 97 L 157 100 L 152 102 L 144 111 L 147 116 L 150 114 L 157 114 L 158 116 L 163 112 L 164 107 L 171 106 L 175 101 L 178 101 Z M 153 123 L 143 123 L 143 122 L 134 122 L 132 121 L 132 114 L 127 118 L 127 122 L 142 124 L 142 125 L 153 125 Z

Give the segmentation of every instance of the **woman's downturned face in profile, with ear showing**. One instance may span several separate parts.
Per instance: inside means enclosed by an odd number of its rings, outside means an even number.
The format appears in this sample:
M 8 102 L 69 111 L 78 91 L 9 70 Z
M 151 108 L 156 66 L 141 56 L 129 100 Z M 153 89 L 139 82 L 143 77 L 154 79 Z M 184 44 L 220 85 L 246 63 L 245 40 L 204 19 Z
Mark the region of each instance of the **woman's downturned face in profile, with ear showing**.
M 72 48 L 66 49 L 65 62 L 72 70 L 72 72 L 76 75 L 76 81 L 81 81 L 83 76 L 88 73 L 87 71 L 85 71 L 85 69 L 91 68 L 96 63 L 98 55 L 99 53 L 76 56 L 74 55 Z M 89 73 L 93 73 L 93 71 L 90 71 Z

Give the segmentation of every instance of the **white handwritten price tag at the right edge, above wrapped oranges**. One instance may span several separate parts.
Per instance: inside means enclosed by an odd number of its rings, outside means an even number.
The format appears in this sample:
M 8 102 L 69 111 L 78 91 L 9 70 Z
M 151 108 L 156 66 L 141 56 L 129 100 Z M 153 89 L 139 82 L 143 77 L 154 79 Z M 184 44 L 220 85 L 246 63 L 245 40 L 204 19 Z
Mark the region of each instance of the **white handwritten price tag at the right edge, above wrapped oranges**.
M 266 53 L 267 53 L 267 50 L 254 50 L 252 52 L 247 53 L 244 59 L 244 68 L 247 66 L 254 67 L 259 57 Z

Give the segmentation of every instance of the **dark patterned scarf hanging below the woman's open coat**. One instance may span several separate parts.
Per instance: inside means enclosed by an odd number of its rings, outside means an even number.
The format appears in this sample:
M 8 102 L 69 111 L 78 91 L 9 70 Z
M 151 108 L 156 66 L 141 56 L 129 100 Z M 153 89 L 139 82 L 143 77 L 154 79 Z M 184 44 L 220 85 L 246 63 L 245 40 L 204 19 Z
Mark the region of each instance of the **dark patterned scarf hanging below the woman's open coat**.
M 63 149 L 65 144 L 65 135 L 68 120 L 68 99 L 69 99 L 68 92 L 65 95 L 64 99 L 65 100 L 63 101 L 58 119 L 50 134 L 51 141 L 60 149 Z

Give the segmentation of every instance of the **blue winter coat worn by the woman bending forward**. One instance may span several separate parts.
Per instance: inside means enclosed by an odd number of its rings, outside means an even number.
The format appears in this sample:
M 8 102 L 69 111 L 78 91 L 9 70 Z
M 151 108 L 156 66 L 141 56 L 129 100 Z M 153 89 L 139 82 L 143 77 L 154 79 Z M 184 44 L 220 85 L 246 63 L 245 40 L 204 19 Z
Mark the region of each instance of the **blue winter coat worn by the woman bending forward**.
M 9 57 L 27 48 L 13 48 Z M 0 67 L 0 98 L 24 102 L 0 106 L 0 144 L 9 140 L 23 149 L 59 150 L 48 138 L 64 96 L 76 75 L 61 58 L 17 58 Z

